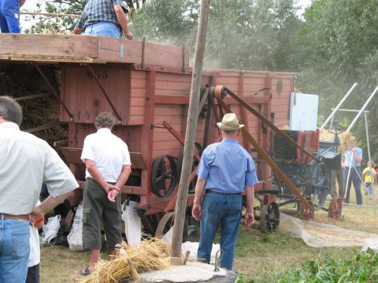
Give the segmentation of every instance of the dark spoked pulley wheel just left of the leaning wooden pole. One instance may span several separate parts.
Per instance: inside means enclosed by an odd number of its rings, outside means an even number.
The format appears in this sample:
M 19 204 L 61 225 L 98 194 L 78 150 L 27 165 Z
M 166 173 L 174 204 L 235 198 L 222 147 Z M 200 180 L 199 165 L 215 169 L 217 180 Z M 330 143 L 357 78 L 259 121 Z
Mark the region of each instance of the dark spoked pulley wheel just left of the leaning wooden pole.
M 162 155 L 153 161 L 151 190 L 156 196 L 166 198 L 176 184 L 176 162 L 170 155 Z

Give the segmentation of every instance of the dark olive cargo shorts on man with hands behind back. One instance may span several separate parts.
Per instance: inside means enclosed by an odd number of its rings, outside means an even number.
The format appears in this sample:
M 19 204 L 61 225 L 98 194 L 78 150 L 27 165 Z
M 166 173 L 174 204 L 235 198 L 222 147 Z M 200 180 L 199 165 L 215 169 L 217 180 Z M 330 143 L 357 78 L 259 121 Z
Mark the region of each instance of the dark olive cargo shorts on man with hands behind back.
M 101 224 L 104 225 L 109 251 L 122 242 L 121 199 L 109 201 L 104 189 L 92 178 L 85 180 L 83 194 L 83 245 L 86 249 L 101 249 Z

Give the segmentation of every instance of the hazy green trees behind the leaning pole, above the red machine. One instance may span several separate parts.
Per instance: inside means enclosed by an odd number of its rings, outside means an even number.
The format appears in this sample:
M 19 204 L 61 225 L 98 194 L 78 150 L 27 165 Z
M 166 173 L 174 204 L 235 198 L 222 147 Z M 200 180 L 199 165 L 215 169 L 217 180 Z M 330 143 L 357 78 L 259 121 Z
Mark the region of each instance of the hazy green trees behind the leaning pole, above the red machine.
M 299 28 L 297 0 L 210 2 L 204 64 L 211 68 L 285 70 L 290 34 Z M 193 55 L 199 1 L 151 0 L 132 17 L 136 38 L 186 45 Z

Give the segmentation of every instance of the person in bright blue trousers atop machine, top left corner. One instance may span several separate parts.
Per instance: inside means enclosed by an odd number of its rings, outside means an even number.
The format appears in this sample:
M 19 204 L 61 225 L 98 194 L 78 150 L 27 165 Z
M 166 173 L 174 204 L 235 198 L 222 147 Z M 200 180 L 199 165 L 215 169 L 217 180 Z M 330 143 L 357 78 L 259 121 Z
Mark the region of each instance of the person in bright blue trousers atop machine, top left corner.
M 20 34 L 20 8 L 25 0 L 0 0 L 0 29 L 2 34 Z

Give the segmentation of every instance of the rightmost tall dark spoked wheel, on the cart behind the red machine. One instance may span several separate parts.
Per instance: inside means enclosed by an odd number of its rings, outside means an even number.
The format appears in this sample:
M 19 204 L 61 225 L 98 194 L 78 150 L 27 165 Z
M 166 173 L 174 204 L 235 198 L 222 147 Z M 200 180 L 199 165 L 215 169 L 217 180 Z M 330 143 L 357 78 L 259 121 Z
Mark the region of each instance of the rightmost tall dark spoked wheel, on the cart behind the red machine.
M 318 163 L 315 166 L 314 175 L 312 175 L 312 197 L 311 202 L 314 205 L 314 210 L 321 210 L 325 203 L 325 198 L 328 194 L 328 170 L 323 163 Z

